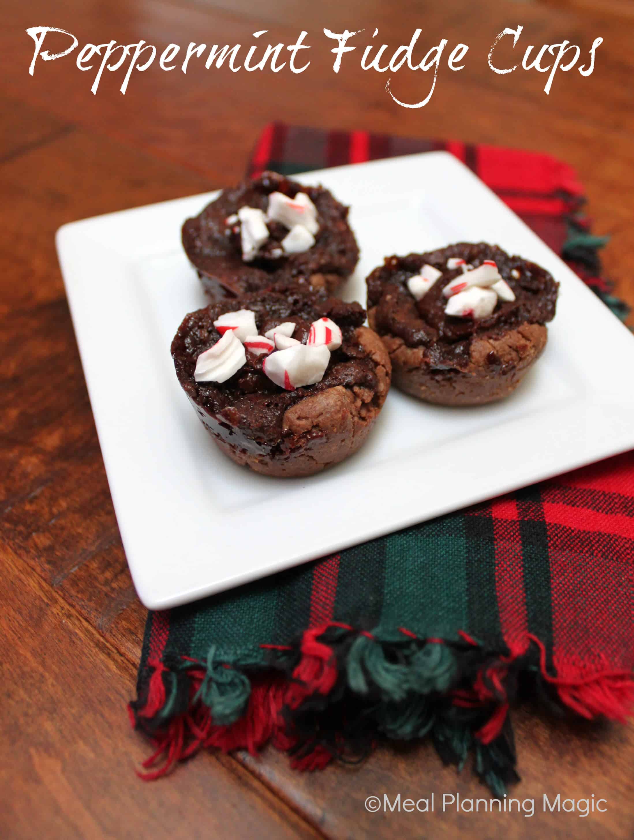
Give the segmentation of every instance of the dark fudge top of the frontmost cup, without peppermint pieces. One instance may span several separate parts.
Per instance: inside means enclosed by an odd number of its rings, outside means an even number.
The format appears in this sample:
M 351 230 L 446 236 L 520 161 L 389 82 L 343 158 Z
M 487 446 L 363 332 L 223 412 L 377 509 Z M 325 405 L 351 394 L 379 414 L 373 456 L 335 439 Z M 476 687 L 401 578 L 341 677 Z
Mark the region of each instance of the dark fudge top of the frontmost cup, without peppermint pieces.
M 279 323 L 292 321 L 296 323 L 293 338 L 300 340 L 307 338 L 308 329 L 317 318 L 332 318 L 342 330 L 343 344 L 331 354 L 322 381 L 295 391 L 284 391 L 270 381 L 262 371 L 265 356 L 255 356 L 249 351 L 246 364 L 227 381 L 196 382 L 196 359 L 220 339 L 213 322 L 223 312 L 237 309 L 253 310 L 260 335 Z M 345 303 L 320 294 L 301 294 L 293 288 L 277 286 L 276 291 L 212 303 L 191 312 L 176 333 L 171 354 L 181 386 L 199 412 L 202 411 L 201 416 L 206 415 L 207 425 L 211 421 L 215 423 L 215 433 L 222 434 L 223 425 L 233 435 L 243 430 L 240 445 L 248 448 L 248 438 L 253 438 L 257 449 L 269 451 L 283 437 L 286 410 L 304 397 L 335 386 L 360 386 L 376 391 L 375 363 L 354 337 L 354 331 L 364 320 L 365 311 L 359 303 Z

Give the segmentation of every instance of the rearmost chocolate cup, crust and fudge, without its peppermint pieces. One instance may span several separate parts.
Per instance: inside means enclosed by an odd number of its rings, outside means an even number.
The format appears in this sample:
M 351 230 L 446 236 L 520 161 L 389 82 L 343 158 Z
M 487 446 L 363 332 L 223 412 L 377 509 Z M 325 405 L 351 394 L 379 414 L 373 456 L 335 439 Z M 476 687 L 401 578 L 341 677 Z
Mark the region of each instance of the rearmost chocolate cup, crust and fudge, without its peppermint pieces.
M 299 254 L 274 256 L 288 229 L 269 223 L 269 241 L 253 261 L 244 262 L 240 234 L 233 232 L 225 219 L 244 206 L 266 211 L 271 192 L 283 192 L 291 198 L 297 192 L 307 193 L 317 207 L 316 242 Z M 202 213 L 186 220 L 182 243 L 213 300 L 264 291 L 278 282 L 331 293 L 359 260 L 359 247 L 348 225 L 348 207 L 321 186 L 303 186 L 275 172 L 264 172 L 234 189 L 223 190 Z

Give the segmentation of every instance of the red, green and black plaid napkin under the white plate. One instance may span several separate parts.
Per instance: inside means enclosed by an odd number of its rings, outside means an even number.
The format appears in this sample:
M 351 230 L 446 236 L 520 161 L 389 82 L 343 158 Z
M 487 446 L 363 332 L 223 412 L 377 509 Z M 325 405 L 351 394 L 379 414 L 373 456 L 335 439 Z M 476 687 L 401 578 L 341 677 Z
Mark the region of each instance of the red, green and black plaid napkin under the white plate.
M 286 174 L 445 149 L 619 316 L 581 213 L 548 155 L 269 125 L 249 172 Z M 502 795 L 518 779 L 510 706 L 624 720 L 634 704 L 634 453 L 167 612 L 150 612 L 134 726 L 155 779 L 200 748 L 266 742 L 297 769 L 358 760 L 378 738 L 469 753 Z M 175 558 L 175 562 L 177 559 Z

